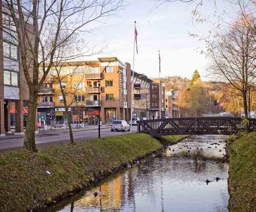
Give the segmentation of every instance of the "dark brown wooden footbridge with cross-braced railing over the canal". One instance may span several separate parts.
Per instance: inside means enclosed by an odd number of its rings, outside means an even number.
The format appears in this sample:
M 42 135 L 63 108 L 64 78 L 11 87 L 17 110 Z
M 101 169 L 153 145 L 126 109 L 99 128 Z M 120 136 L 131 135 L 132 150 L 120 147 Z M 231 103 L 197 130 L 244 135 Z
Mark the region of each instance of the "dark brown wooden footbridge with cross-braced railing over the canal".
M 250 130 L 256 119 L 249 119 Z M 137 121 L 137 132 L 151 135 L 235 134 L 245 130 L 244 119 L 234 117 L 186 117 Z

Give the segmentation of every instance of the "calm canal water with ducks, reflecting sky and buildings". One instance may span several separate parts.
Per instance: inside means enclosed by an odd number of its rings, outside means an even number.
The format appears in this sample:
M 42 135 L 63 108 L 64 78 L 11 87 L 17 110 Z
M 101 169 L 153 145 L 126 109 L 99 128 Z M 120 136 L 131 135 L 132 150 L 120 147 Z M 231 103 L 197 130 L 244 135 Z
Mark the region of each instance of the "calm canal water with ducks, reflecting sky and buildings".
M 190 136 L 44 212 L 228 212 L 226 138 Z

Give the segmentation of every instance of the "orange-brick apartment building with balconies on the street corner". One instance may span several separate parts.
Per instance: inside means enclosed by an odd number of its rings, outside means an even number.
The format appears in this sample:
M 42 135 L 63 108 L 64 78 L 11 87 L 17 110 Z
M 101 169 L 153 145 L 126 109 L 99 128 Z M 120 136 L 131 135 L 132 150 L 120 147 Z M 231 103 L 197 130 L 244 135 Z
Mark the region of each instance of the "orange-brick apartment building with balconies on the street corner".
M 61 86 L 73 89 L 79 83 L 76 95 L 70 98 L 71 122 L 98 123 L 99 107 L 102 124 L 114 119 L 130 120 L 131 66 L 116 57 L 98 58 L 97 61 L 68 62 L 61 68 L 64 73 L 76 70 L 72 78 L 61 81 Z M 49 75 L 38 97 L 38 112 L 47 122 L 66 122 L 63 96 L 55 70 Z M 70 99 L 68 100 L 70 102 Z

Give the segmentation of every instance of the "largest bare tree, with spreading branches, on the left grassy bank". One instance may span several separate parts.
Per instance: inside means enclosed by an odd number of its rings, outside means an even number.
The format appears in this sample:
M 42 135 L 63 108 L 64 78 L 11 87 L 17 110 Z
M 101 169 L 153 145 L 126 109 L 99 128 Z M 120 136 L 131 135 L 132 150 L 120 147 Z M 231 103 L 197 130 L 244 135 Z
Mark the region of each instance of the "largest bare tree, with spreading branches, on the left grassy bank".
M 17 29 L 14 39 L 20 49 L 20 67 L 29 87 L 28 123 L 23 148 L 36 151 L 38 91 L 55 63 L 56 52 L 70 37 L 76 34 L 82 37 L 88 32 L 85 28 L 88 24 L 113 15 L 122 7 L 122 0 L 3 0 L 3 4 Z M 75 55 L 70 52 L 63 60 L 78 55 L 83 55 L 83 52 Z

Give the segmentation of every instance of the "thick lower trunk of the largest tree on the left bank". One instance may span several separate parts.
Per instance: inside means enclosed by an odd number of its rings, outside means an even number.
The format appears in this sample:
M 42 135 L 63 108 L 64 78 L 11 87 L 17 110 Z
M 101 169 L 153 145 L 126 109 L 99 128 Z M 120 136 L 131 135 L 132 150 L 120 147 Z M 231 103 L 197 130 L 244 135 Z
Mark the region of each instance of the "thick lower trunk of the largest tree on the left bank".
M 35 148 L 35 116 L 37 107 L 37 98 L 34 96 L 30 97 L 28 103 L 28 121 L 26 125 L 25 138 L 23 143 L 23 148 L 29 151 L 36 152 Z

